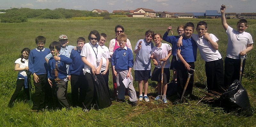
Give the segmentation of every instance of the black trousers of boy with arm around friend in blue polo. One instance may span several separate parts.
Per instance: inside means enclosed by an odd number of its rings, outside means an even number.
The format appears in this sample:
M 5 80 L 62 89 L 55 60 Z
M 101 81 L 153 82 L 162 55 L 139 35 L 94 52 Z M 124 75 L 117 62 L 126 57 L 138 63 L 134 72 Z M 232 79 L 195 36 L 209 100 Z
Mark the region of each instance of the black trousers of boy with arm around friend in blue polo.
M 222 59 L 205 62 L 205 74 L 208 91 L 224 92 L 224 67 Z

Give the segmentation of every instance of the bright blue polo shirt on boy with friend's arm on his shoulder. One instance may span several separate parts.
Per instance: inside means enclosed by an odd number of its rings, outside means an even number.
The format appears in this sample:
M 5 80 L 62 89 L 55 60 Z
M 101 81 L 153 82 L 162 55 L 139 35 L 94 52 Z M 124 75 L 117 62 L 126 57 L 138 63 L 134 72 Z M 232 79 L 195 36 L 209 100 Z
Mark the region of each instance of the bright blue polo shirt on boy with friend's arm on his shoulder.
M 192 38 L 188 39 L 183 37 L 182 46 L 180 46 L 180 54 L 187 63 L 196 61 L 196 51 L 196 42 Z M 181 61 L 179 60 L 179 62 Z

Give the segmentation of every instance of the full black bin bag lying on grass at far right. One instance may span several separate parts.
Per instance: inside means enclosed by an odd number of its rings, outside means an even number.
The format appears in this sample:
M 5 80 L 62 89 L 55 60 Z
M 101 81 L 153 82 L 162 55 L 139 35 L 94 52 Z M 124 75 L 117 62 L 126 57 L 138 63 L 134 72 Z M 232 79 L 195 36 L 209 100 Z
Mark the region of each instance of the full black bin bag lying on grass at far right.
M 228 109 L 241 108 L 246 116 L 251 116 L 251 105 L 246 90 L 235 80 L 220 96 L 221 107 Z

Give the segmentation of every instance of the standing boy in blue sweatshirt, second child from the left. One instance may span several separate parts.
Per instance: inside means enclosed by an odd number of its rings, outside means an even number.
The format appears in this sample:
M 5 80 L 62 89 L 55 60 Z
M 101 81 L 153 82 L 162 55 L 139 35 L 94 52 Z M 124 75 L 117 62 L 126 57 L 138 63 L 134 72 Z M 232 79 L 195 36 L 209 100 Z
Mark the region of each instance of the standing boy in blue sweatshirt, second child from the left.
M 29 53 L 28 69 L 33 74 L 35 94 L 33 100 L 33 111 L 44 111 L 44 96 L 45 85 L 47 84 L 47 69 L 48 65 L 44 60 L 44 57 L 50 53 L 50 50 L 44 48 L 45 37 L 36 37 L 37 47 Z

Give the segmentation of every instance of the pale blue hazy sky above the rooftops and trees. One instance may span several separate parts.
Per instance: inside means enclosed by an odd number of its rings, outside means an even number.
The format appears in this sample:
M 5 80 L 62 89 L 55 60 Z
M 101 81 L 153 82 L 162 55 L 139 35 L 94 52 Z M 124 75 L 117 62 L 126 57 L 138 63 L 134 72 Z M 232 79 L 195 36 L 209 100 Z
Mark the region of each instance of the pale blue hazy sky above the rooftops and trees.
M 148 8 L 154 11 L 169 12 L 205 12 L 218 10 L 224 4 L 226 12 L 246 13 L 256 12 L 256 0 L 1 0 L 0 9 L 31 8 L 31 9 L 93 9 L 107 10 L 135 10 Z

